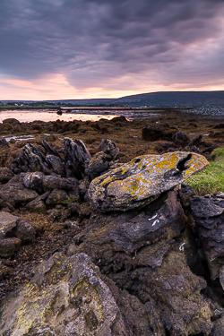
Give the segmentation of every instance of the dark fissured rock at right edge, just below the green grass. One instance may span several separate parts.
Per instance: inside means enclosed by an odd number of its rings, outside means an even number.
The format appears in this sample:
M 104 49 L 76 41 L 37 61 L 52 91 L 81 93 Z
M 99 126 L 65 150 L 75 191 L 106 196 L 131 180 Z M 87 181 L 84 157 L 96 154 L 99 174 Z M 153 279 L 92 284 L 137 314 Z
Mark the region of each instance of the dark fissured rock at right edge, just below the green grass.
M 190 200 L 191 210 L 204 254 L 211 271 L 211 279 L 221 278 L 224 255 L 224 194 L 210 197 L 195 196 Z M 220 283 L 222 280 L 220 279 Z

